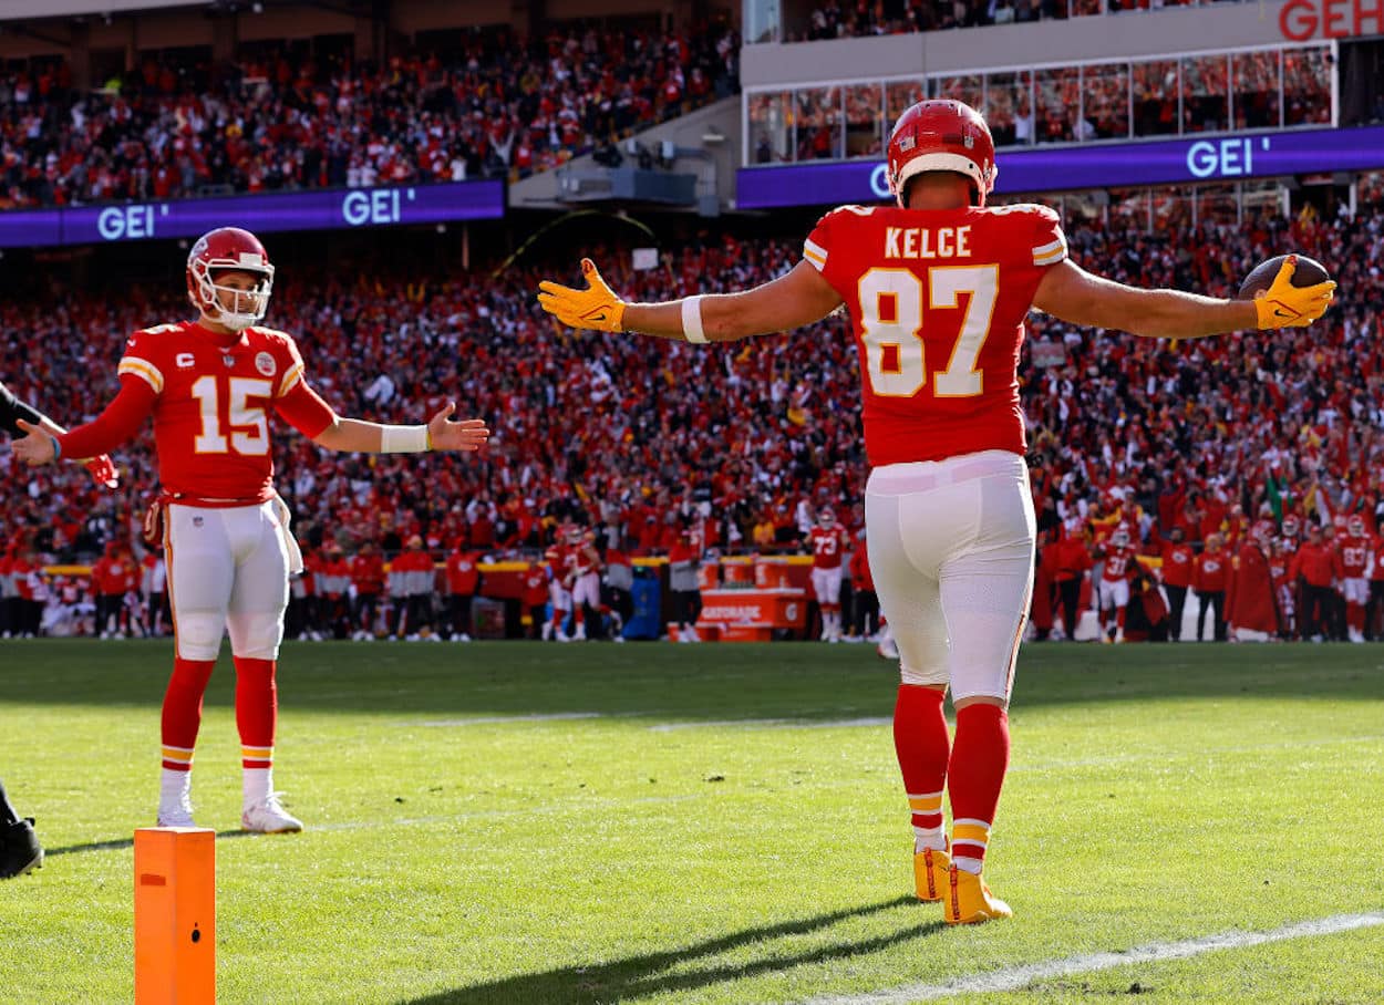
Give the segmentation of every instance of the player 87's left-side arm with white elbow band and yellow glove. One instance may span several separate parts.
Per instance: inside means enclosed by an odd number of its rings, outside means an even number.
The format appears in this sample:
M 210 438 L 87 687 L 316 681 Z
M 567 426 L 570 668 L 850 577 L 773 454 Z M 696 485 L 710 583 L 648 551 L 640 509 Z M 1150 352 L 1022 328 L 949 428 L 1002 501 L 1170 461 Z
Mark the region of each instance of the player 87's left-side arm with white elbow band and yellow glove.
M 837 292 L 807 262 L 739 293 L 706 293 L 664 303 L 626 303 L 601 278 L 591 259 L 581 259 L 581 271 L 590 284 L 587 289 L 545 280 L 538 284 L 538 303 L 563 324 L 594 331 L 632 331 L 685 342 L 735 342 L 819 321 L 841 303 Z

